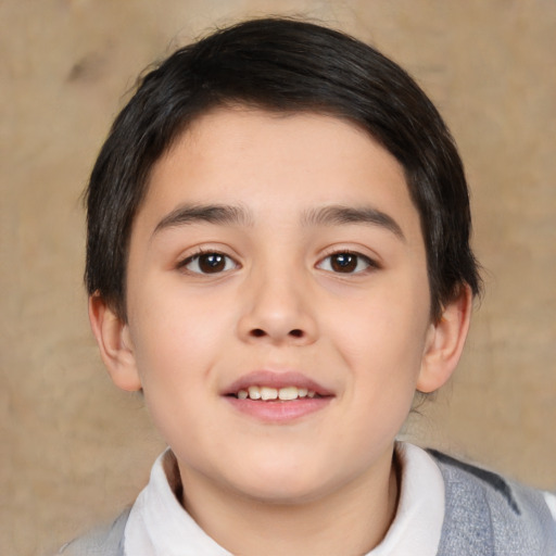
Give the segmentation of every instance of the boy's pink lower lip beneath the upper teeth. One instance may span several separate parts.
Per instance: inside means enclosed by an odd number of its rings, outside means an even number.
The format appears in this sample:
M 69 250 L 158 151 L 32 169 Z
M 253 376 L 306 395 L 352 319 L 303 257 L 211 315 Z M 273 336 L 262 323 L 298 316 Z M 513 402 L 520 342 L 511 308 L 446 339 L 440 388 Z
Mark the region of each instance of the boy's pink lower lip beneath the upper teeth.
M 238 412 L 263 422 L 285 424 L 324 409 L 330 403 L 332 396 L 300 397 L 287 402 L 280 400 L 266 402 L 249 399 L 239 400 L 232 396 L 227 396 L 226 400 Z

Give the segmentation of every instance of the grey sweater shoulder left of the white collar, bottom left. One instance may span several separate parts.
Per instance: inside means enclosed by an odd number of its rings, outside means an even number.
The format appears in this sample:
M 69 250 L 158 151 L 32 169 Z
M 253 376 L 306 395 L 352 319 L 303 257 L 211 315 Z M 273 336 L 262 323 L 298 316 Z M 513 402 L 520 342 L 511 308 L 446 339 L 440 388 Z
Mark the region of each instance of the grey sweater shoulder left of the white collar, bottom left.
M 131 508 L 125 509 L 114 521 L 97 527 L 84 536 L 64 545 L 63 556 L 124 556 L 124 531 Z

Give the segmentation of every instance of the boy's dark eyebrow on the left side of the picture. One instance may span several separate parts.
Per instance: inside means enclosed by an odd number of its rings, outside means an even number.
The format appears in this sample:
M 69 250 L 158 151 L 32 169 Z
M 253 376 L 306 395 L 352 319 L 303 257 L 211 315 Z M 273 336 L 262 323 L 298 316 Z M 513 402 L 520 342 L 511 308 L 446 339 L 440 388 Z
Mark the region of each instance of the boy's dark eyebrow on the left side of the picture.
M 253 218 L 242 206 L 223 204 L 184 204 L 172 211 L 156 225 L 153 236 L 166 228 L 188 224 L 219 224 L 223 226 L 252 226 Z

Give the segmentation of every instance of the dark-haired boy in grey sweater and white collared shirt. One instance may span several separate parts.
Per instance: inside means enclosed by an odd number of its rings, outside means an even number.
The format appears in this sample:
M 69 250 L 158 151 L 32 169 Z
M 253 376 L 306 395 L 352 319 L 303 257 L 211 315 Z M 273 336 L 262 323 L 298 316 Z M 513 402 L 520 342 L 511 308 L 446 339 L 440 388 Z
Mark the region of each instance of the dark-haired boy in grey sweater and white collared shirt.
M 480 278 L 463 166 L 397 65 L 245 22 L 149 73 L 88 189 L 90 319 L 168 443 L 63 554 L 556 554 L 553 498 L 396 443 Z

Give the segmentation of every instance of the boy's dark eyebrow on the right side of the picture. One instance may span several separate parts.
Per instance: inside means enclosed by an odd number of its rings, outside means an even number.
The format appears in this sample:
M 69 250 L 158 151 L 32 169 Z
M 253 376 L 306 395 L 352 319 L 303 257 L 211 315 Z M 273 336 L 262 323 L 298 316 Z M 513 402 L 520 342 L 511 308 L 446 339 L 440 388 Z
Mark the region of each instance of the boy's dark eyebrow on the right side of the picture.
M 394 218 L 372 206 L 352 207 L 330 205 L 324 206 L 323 208 L 313 208 L 303 215 L 302 223 L 307 226 L 367 224 L 384 228 L 394 233 L 394 236 L 402 241 L 406 240 L 402 227 Z

